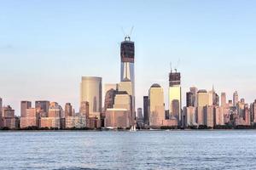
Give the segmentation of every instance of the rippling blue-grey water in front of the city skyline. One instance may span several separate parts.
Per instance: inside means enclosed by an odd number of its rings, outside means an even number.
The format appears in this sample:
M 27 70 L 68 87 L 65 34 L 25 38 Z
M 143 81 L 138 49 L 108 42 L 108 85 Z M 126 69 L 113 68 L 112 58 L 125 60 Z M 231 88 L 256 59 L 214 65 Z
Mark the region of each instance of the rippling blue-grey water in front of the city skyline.
M 2 132 L 0 169 L 256 169 L 256 131 Z

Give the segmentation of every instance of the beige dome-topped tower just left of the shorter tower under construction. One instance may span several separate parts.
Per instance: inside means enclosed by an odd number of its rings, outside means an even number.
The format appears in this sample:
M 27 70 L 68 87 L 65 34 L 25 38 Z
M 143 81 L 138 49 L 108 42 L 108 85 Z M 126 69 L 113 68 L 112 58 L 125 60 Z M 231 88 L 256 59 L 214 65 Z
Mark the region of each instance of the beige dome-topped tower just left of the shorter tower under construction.
M 161 126 L 165 120 L 164 89 L 153 84 L 148 91 L 149 126 Z

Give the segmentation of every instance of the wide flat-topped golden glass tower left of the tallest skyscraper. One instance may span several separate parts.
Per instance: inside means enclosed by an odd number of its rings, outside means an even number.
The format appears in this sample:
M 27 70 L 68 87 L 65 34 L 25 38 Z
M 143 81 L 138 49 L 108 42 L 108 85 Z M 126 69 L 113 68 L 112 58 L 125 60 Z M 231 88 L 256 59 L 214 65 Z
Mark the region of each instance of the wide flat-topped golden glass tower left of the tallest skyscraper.
M 90 117 L 99 118 L 102 112 L 102 77 L 82 77 L 80 103 L 89 102 Z

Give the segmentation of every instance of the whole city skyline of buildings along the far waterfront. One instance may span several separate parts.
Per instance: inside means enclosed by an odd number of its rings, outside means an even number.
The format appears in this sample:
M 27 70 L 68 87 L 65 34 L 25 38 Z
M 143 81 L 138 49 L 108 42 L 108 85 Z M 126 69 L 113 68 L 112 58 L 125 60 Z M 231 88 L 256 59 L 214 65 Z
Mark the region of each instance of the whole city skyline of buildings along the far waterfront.
M 143 96 L 143 108 L 136 111 L 134 56 L 134 42 L 127 36 L 120 44 L 120 82 L 105 84 L 104 99 L 102 77 L 82 77 L 79 112 L 75 112 L 70 103 L 63 109 L 58 103 L 47 100 L 35 101 L 34 106 L 31 101 L 21 101 L 20 116 L 15 116 L 15 110 L 9 105 L 3 106 L 0 98 L 0 127 L 212 128 L 256 123 L 256 100 L 247 104 L 245 99 L 239 99 L 237 92 L 227 101 L 226 94 L 221 93 L 219 97 L 213 87 L 208 92 L 192 87 L 186 93 L 186 105 L 182 106 L 181 74 L 176 69 L 169 73 L 168 104 L 165 105 L 164 88 L 154 83 Z

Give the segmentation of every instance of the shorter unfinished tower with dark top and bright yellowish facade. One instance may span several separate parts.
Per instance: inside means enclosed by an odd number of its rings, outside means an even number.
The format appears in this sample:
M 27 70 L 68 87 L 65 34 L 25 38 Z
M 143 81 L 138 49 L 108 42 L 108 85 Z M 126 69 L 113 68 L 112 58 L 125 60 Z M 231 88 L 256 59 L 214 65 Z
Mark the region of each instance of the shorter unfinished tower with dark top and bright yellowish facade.
M 170 116 L 177 118 L 178 124 L 182 121 L 182 94 L 180 72 L 169 73 L 169 112 Z

